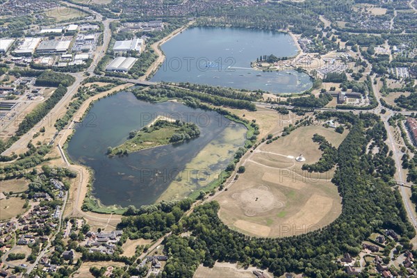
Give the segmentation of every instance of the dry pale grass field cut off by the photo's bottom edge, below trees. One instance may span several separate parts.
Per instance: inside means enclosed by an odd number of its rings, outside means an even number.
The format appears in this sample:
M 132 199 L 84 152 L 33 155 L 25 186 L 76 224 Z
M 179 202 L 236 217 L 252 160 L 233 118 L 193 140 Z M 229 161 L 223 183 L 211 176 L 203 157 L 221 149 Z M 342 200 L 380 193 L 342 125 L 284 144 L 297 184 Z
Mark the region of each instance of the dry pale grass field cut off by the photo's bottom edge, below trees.
M 240 268 L 236 263 L 219 263 L 216 262 L 213 268 L 207 268 L 203 265 L 199 265 L 195 271 L 193 278 L 253 278 L 253 270 L 259 270 L 259 268 L 249 267 Z M 274 277 L 274 275 L 263 271 L 268 277 Z

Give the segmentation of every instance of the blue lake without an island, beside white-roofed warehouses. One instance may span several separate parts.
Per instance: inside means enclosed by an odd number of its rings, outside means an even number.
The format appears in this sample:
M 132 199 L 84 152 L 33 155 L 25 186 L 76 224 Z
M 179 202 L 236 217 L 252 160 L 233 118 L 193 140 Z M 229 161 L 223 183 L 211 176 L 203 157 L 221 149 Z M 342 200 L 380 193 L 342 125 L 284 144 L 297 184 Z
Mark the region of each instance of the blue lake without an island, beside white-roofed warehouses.
M 310 77 L 293 70 L 261 72 L 250 62 L 261 55 L 293 56 L 290 35 L 245 28 L 188 28 L 161 46 L 166 59 L 152 81 L 190 82 L 274 93 L 311 88 Z M 291 74 L 288 74 L 291 72 Z

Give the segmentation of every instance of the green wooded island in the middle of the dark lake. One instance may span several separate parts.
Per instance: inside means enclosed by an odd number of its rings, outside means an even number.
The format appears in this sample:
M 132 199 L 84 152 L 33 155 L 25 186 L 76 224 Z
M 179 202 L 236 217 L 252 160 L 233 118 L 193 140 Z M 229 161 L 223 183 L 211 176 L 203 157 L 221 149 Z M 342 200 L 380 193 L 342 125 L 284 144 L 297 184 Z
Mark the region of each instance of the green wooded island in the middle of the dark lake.
M 124 155 L 162 145 L 174 144 L 197 138 L 200 134 L 196 124 L 181 122 L 169 117 L 159 116 L 140 131 L 129 132 L 129 140 L 115 148 L 108 147 L 109 156 Z

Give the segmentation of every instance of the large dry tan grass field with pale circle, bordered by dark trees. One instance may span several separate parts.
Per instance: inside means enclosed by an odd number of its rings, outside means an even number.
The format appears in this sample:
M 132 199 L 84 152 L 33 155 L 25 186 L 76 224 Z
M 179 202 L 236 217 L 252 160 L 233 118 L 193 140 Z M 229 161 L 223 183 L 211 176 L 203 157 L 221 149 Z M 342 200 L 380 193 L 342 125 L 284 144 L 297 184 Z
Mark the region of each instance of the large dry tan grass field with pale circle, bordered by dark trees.
M 295 157 L 315 163 L 322 152 L 311 138 L 319 133 L 335 147 L 347 131 L 305 126 L 254 151 L 246 172 L 218 197 L 220 218 L 231 229 L 250 236 L 282 237 L 304 234 L 334 221 L 341 213 L 341 197 L 330 182 L 333 170 L 302 171 Z

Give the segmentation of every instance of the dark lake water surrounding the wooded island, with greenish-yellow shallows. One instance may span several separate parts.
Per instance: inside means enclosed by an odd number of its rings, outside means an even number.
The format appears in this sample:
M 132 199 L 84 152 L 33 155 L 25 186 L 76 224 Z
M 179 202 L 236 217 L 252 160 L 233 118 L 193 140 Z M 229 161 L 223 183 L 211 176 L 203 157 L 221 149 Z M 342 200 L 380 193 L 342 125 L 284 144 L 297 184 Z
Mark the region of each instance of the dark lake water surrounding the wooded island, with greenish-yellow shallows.
M 199 138 L 179 145 L 145 149 L 129 156 L 106 156 L 107 147 L 126 140 L 158 115 L 199 126 Z M 130 92 L 101 99 L 79 126 L 67 152 L 95 171 L 93 195 L 104 205 L 141 206 L 186 197 L 207 186 L 244 145 L 246 128 L 213 111 L 167 101 L 150 104 Z

